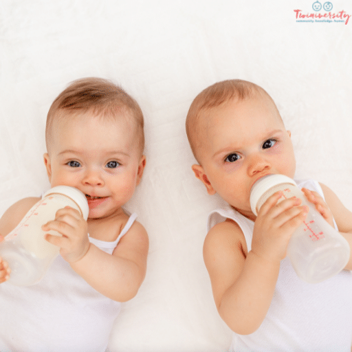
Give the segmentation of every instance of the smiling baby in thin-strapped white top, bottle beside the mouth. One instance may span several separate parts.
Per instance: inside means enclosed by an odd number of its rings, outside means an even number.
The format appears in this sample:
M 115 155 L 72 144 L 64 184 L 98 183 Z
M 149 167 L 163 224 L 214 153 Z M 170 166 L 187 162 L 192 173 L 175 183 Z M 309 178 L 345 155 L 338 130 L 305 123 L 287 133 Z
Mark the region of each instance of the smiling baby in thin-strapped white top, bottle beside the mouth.
M 47 175 L 52 187 L 81 190 L 89 216 L 58 210 L 43 230 L 62 234 L 46 234 L 61 255 L 43 280 L 1 285 L 0 351 L 105 351 L 121 302 L 137 294 L 146 274 L 146 230 L 123 208 L 146 164 L 143 126 L 137 102 L 109 80 L 77 80 L 54 100 Z M 0 219 L 0 233 L 12 231 L 39 199 L 14 203 Z M 10 269 L 0 259 L 1 282 Z

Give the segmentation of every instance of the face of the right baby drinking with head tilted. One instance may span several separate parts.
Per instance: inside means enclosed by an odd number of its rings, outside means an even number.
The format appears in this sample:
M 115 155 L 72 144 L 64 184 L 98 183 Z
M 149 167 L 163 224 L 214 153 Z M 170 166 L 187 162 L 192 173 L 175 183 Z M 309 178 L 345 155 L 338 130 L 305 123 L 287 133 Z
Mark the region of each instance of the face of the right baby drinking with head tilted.
M 230 101 L 212 109 L 200 137 L 203 148 L 201 166 L 193 166 L 196 176 L 210 194 L 219 193 L 249 218 L 254 217 L 250 189 L 257 179 L 268 174 L 294 177 L 290 134 L 267 98 Z

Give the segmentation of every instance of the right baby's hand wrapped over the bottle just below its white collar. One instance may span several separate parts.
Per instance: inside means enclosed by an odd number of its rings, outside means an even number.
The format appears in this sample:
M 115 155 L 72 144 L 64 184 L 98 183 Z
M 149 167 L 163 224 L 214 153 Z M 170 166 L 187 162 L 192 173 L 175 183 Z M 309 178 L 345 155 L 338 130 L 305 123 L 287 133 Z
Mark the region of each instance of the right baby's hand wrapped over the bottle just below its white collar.
M 283 192 L 276 192 L 261 207 L 254 223 L 252 252 L 267 261 L 284 259 L 294 231 L 305 220 L 309 208 L 298 198 L 277 203 Z

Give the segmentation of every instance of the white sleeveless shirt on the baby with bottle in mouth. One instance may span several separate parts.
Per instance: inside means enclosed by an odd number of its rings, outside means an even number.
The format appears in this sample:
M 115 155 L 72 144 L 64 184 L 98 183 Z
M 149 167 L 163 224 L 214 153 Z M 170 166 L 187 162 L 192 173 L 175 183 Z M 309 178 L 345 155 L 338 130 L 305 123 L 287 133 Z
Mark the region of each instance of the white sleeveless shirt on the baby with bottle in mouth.
M 324 197 L 318 182 L 296 183 L 300 188 L 315 190 Z M 227 218 L 240 226 L 249 252 L 254 221 L 232 207 L 211 212 L 208 229 Z M 230 351 L 351 352 L 351 344 L 351 272 L 343 270 L 322 283 L 309 284 L 298 278 L 289 259 L 285 258 L 281 261 L 274 297 L 263 323 L 250 335 L 233 333 Z

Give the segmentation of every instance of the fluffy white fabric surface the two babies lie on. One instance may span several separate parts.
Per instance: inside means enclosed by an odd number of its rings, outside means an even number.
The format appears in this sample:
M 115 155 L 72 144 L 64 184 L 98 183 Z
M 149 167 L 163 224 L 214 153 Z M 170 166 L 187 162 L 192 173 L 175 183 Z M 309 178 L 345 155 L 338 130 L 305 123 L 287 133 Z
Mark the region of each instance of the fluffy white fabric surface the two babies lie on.
M 352 209 L 352 19 L 298 23 L 305 0 L 1 0 L 0 214 L 49 186 L 45 118 L 67 83 L 101 76 L 140 103 L 147 164 L 126 208 L 150 237 L 148 272 L 111 334 L 119 352 L 223 352 L 231 333 L 212 300 L 202 245 L 221 201 L 190 169 L 192 99 L 223 79 L 272 95 L 303 175 Z M 349 0 L 332 12 L 352 14 Z

